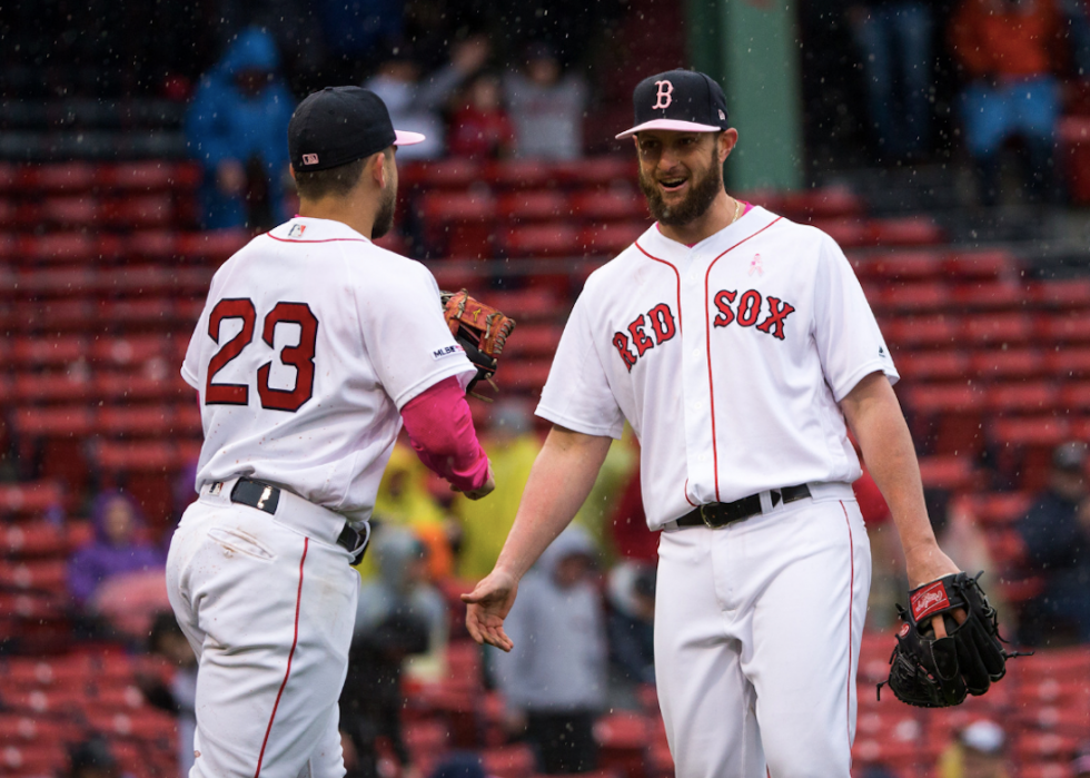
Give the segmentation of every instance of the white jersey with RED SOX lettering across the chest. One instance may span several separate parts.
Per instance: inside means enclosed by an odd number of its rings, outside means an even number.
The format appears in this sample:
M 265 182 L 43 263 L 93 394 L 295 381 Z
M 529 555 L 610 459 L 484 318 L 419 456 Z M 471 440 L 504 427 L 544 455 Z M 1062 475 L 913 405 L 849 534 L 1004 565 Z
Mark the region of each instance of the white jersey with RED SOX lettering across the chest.
M 838 403 L 875 371 L 898 380 L 843 252 L 756 207 L 692 247 L 653 225 L 595 270 L 537 414 L 613 437 L 627 420 L 655 530 L 695 505 L 858 479 Z

